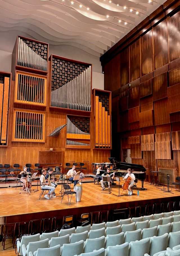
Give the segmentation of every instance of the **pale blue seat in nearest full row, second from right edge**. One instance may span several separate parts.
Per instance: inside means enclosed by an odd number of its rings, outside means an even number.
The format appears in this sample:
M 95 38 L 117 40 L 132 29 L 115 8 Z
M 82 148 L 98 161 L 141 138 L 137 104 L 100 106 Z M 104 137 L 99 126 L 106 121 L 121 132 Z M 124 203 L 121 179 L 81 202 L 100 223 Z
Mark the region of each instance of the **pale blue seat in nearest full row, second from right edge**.
M 159 251 L 165 251 L 168 245 L 168 233 L 159 237 L 154 236 L 150 238 L 150 256 L 153 256 Z

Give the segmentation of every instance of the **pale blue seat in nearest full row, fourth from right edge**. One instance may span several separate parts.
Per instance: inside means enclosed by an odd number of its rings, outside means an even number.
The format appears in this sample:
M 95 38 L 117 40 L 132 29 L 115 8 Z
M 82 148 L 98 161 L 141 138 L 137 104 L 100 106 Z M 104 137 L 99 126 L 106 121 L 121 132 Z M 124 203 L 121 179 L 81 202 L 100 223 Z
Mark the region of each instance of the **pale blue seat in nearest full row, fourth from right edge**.
M 114 256 L 114 255 L 128 256 L 129 244 L 124 243 L 116 246 L 108 246 L 107 249 L 105 249 L 105 256 Z

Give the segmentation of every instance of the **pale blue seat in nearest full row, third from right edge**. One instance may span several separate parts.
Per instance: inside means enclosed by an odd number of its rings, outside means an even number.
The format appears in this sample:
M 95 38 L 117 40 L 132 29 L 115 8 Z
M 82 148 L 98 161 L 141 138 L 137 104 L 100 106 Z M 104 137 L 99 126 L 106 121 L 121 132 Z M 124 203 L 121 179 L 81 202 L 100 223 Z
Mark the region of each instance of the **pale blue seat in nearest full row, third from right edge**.
M 130 242 L 129 256 L 144 256 L 149 253 L 150 238 L 141 239 L 140 241 Z

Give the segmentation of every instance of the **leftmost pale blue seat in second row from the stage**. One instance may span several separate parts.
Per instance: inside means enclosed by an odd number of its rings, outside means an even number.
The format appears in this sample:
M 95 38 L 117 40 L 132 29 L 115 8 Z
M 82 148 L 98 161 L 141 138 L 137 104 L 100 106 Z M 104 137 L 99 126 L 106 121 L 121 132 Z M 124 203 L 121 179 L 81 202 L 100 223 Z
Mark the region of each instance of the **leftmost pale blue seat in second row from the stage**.
M 23 256 L 28 256 L 29 252 L 34 253 L 37 251 L 38 248 L 48 248 L 49 247 L 49 239 L 46 238 L 42 241 L 37 241 L 37 242 L 29 242 L 27 246 L 22 244 L 22 255 Z

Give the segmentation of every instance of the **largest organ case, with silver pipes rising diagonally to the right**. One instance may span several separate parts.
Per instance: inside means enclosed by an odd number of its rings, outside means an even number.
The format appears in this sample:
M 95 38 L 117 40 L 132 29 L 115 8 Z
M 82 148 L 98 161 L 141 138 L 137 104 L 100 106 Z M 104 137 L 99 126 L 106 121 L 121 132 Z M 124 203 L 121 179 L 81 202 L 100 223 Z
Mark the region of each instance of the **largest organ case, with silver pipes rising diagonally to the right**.
M 89 64 L 51 55 L 51 106 L 91 111 Z

